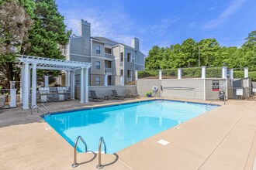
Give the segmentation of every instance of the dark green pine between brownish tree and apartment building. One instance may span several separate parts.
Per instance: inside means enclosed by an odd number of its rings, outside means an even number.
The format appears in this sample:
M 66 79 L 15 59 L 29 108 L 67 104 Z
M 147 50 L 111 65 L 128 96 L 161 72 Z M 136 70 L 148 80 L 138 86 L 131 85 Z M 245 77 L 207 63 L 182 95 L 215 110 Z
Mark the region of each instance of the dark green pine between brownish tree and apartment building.
M 64 17 L 57 11 L 54 0 L 36 0 L 34 24 L 29 31 L 29 43 L 33 44 L 24 52 L 26 55 L 63 59 L 59 47 L 67 42 Z

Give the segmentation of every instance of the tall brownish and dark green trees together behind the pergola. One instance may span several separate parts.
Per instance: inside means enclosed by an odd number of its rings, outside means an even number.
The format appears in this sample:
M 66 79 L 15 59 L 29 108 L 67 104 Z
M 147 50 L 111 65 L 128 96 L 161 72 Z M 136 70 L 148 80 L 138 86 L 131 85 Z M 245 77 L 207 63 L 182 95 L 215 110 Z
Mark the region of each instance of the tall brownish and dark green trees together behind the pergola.
M 0 0 L 0 87 L 20 79 L 16 54 L 64 59 L 60 49 L 70 34 L 55 0 Z

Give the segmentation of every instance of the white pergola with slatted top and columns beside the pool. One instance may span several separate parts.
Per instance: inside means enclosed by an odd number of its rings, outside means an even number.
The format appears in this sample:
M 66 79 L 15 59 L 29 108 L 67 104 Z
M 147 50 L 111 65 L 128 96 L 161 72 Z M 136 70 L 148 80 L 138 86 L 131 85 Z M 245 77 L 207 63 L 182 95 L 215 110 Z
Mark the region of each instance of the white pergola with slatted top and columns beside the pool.
M 38 56 L 17 55 L 17 66 L 21 68 L 21 102 L 22 109 L 29 109 L 30 84 L 32 84 L 31 106 L 36 105 L 36 70 L 64 70 L 66 71 L 67 82 L 71 87 L 71 99 L 74 99 L 75 70 L 81 70 L 80 78 L 80 103 L 88 103 L 88 69 L 92 63 L 77 62 L 64 59 L 50 59 Z M 30 70 L 32 69 L 32 81 Z M 31 83 L 32 82 L 32 83 Z M 67 83 L 69 87 L 69 83 Z

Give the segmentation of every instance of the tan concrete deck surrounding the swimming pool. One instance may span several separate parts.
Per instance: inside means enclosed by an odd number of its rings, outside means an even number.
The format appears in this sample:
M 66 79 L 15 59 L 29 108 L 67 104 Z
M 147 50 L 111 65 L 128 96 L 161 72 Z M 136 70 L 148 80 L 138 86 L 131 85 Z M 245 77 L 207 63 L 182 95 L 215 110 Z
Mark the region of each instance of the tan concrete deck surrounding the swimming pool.
M 135 100 L 90 104 L 79 104 L 75 100 L 46 105 L 54 112 L 130 101 Z M 96 169 L 98 157 L 92 153 L 78 154 L 78 162 L 83 163 L 71 168 L 71 145 L 36 111 L 34 113 L 30 115 L 30 110 L 18 107 L 0 114 L 0 169 Z M 102 155 L 102 164 L 106 165 L 103 169 L 251 170 L 256 155 L 255 134 L 256 101 L 229 100 L 222 107 L 140 141 L 116 155 Z M 170 143 L 157 143 L 161 139 Z

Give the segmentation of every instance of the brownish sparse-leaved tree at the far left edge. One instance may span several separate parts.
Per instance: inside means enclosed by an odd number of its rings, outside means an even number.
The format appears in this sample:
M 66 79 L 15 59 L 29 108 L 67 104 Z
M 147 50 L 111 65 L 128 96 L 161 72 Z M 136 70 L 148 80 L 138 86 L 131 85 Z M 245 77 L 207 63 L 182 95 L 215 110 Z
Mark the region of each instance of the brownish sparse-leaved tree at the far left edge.
M 28 30 L 32 20 L 19 2 L 6 1 L 0 6 L 0 82 L 4 88 L 9 88 L 9 81 L 18 80 L 13 62 L 15 54 L 21 49 L 26 50 L 29 44 Z

